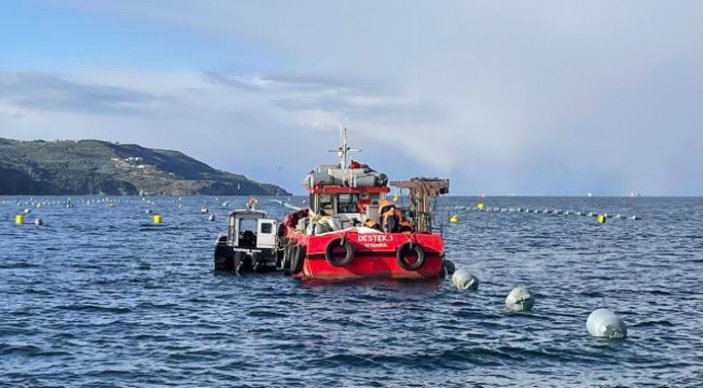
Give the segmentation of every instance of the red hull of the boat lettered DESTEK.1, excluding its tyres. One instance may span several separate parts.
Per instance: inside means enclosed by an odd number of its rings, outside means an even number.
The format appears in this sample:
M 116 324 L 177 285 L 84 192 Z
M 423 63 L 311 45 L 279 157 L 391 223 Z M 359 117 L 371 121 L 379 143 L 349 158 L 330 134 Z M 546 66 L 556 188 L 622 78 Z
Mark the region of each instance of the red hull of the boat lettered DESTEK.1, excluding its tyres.
M 358 233 L 350 230 L 308 236 L 292 231 L 288 238 L 305 247 L 303 269 L 294 274 L 303 279 L 436 279 L 444 267 L 444 244 L 438 234 Z M 333 265 L 328 259 L 330 244 L 339 245 L 340 241 L 348 242 L 353 250 L 351 261 L 342 266 Z M 421 247 L 424 262 L 417 269 L 407 269 L 407 265 L 404 268 L 398 250 L 407 252 L 416 246 Z M 407 256 L 412 256 L 407 259 L 410 264 L 416 263 L 417 255 Z

